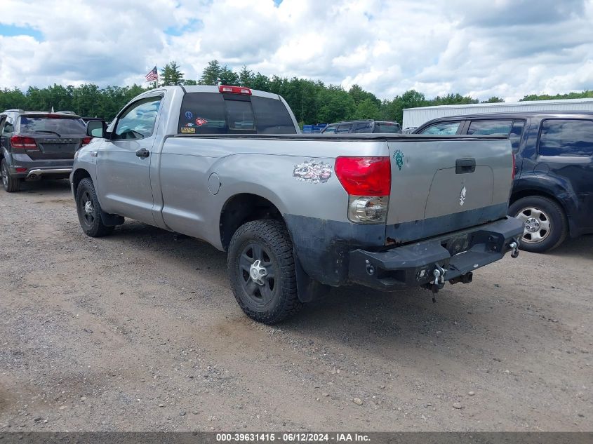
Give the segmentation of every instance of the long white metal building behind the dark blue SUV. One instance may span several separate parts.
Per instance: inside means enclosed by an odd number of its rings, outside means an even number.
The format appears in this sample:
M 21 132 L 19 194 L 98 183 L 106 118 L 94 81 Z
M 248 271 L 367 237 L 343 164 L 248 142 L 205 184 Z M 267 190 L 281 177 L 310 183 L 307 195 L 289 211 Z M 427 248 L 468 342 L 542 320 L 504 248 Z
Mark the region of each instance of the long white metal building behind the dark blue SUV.
M 593 98 L 566 100 L 533 100 L 530 102 L 473 103 L 471 105 L 439 105 L 404 109 L 401 128 L 420 126 L 432 119 L 466 114 L 521 111 L 593 111 Z

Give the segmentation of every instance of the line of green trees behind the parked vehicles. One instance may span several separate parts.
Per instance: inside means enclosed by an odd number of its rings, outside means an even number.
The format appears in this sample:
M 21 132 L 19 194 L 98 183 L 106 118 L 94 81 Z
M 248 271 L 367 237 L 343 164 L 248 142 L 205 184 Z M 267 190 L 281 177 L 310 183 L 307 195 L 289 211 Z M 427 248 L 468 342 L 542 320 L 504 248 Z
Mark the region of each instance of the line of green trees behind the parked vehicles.
M 27 109 L 38 111 L 74 111 L 80 116 L 99 116 L 112 120 L 126 102 L 145 90 L 168 85 L 241 85 L 248 88 L 279 94 L 291 109 L 300 124 L 332 123 L 349 119 L 394 120 L 401 123 L 404 108 L 428 107 L 434 105 L 462 105 L 478 103 L 469 95 L 451 93 L 427 98 L 416 90 L 396 95 L 392 100 L 380 100 L 376 95 L 353 85 L 349 90 L 342 86 L 322 81 L 288 79 L 281 76 L 266 76 L 242 67 L 234 72 L 217 60 L 208 62 L 199 79 L 185 79 L 177 62 L 170 62 L 161 69 L 159 81 L 149 86 L 107 86 L 99 88 L 93 83 L 81 86 L 54 84 L 47 88 L 29 86 L 0 90 L 0 109 Z M 558 95 L 526 95 L 521 100 L 551 100 L 593 97 L 593 90 L 582 93 Z M 490 97 L 483 103 L 504 102 L 500 97 Z

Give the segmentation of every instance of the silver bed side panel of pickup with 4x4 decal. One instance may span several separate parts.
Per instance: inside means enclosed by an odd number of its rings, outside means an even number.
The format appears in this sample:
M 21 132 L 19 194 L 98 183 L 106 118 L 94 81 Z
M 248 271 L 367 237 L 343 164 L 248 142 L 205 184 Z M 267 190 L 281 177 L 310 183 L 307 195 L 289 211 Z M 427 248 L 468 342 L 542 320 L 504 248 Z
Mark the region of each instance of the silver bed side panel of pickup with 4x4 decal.
M 267 199 L 283 215 L 347 222 L 348 196 L 333 170 L 338 154 L 388 153 L 385 142 L 375 141 L 169 137 L 159 169 L 164 222 L 222 249 L 220 213 L 244 193 Z M 218 190 L 208 188 L 211 175 Z

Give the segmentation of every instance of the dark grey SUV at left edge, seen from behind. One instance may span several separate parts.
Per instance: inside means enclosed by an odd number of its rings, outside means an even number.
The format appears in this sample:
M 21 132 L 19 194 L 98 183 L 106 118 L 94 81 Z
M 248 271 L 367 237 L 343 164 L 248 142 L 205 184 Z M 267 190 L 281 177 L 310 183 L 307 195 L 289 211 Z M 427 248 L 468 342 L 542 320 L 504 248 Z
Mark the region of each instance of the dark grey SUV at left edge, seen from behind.
M 0 114 L 0 174 L 8 192 L 22 180 L 64 179 L 72 171 L 74 152 L 91 141 L 75 114 L 25 112 Z

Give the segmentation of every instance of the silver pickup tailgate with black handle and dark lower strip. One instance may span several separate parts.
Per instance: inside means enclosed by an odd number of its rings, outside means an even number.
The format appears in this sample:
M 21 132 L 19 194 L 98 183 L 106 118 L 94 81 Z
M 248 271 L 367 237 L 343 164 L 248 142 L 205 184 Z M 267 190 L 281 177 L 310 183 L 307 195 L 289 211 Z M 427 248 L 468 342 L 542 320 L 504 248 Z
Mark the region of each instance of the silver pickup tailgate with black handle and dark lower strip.
M 498 220 L 512 187 L 508 140 L 389 141 L 387 237 L 398 243 Z

